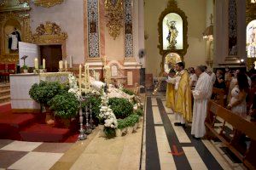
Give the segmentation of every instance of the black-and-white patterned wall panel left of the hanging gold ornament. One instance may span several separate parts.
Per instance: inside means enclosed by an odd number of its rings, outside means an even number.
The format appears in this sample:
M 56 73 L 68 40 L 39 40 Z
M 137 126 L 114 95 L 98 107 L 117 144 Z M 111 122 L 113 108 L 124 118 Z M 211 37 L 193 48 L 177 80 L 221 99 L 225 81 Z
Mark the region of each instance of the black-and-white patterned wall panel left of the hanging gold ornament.
M 100 56 L 98 8 L 99 8 L 98 0 L 88 0 L 87 11 L 88 11 L 88 48 L 89 48 L 89 58 L 96 58 L 96 57 Z

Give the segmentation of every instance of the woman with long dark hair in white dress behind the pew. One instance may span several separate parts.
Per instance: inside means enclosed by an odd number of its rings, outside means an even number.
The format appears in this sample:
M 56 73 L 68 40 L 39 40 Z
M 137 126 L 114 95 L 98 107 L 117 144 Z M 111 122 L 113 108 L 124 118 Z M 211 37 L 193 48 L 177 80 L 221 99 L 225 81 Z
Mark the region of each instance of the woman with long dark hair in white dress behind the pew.
M 230 109 L 235 114 L 246 118 L 247 116 L 247 93 L 249 91 L 249 83 L 247 79 L 247 75 L 241 73 L 241 71 L 237 74 L 237 84 L 231 90 L 230 94 L 230 105 L 228 105 L 228 109 Z

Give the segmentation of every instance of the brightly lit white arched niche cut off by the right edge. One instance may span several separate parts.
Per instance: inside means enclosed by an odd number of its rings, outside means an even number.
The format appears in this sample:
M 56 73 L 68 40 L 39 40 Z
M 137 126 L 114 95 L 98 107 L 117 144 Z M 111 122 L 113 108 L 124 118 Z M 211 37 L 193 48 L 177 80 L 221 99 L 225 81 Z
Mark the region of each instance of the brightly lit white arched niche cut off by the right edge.
M 256 58 L 256 20 L 247 25 L 247 58 Z

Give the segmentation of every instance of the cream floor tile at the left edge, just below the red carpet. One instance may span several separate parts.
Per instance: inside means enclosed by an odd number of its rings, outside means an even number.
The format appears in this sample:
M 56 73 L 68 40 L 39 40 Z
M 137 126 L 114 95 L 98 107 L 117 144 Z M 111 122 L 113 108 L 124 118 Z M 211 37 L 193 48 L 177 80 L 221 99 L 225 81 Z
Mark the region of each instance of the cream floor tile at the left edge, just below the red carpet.
M 0 150 L 15 150 L 15 151 L 32 151 L 37 148 L 41 142 L 24 142 L 24 141 L 14 141 Z

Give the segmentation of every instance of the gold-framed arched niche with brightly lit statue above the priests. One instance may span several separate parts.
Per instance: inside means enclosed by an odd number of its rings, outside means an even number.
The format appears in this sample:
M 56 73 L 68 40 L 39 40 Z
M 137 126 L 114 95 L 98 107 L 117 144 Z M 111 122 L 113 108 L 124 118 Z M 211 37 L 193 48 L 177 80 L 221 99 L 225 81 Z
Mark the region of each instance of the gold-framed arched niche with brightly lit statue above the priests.
M 167 54 L 176 53 L 183 60 L 187 53 L 188 44 L 188 20 L 186 14 L 177 7 L 175 0 L 169 0 L 166 9 L 160 14 L 158 22 L 160 64 L 162 71 L 165 67 Z

